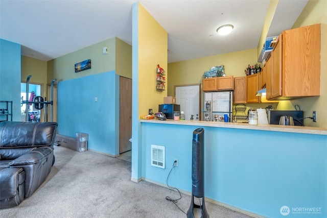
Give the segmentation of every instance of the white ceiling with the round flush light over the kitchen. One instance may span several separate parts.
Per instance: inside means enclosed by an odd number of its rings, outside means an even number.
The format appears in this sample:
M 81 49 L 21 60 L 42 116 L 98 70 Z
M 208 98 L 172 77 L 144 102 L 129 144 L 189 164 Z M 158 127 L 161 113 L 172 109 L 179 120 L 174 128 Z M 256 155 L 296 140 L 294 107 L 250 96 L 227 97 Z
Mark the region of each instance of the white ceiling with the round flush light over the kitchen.
M 0 38 L 43 61 L 103 40 L 132 42 L 132 0 L 0 0 Z M 141 0 L 168 32 L 168 62 L 258 47 L 269 0 Z M 290 29 L 308 0 L 279 0 L 267 37 Z M 232 24 L 228 36 L 216 29 Z

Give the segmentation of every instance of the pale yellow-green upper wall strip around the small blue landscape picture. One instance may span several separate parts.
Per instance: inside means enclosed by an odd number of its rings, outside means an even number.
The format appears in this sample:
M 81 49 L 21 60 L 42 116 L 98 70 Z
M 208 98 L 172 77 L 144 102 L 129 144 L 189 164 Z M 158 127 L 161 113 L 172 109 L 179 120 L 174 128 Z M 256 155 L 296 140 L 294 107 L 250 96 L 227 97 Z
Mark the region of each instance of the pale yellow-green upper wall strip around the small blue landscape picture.
M 115 37 L 48 61 L 49 75 L 57 81 L 100 74 L 115 69 Z M 102 48 L 108 47 L 108 54 Z M 91 69 L 75 72 L 75 64 L 91 59 Z M 49 82 L 49 81 L 48 81 Z

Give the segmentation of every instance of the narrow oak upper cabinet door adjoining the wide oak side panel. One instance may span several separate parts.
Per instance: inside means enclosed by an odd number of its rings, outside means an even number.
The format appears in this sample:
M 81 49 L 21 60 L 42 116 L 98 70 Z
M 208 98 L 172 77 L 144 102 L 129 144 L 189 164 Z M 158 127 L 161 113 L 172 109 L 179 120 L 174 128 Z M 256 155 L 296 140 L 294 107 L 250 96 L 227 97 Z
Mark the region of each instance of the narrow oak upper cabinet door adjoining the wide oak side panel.
M 272 59 L 272 86 L 271 98 L 282 96 L 282 36 L 279 36 L 271 52 Z

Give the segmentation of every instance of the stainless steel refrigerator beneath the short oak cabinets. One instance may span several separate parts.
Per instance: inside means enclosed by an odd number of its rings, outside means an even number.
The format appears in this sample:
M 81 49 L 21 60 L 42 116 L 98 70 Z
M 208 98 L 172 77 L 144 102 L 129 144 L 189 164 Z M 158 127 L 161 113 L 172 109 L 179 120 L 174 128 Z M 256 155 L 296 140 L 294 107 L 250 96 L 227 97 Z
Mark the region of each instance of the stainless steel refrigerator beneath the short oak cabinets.
M 232 122 L 232 91 L 204 92 L 203 120 L 224 122 L 224 114 L 228 114 L 228 122 Z

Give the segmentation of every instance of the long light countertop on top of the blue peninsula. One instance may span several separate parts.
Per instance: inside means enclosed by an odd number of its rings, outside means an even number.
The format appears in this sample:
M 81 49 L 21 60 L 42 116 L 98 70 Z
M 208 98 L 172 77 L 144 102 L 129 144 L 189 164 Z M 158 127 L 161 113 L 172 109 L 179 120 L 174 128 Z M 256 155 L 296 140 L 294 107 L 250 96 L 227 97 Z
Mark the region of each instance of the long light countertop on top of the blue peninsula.
M 291 132 L 315 135 L 327 135 L 327 130 L 319 127 L 302 127 L 302 126 L 281 126 L 281 125 L 249 125 L 247 123 L 224 123 L 224 122 L 207 122 L 198 120 L 158 120 L 158 119 L 141 119 L 141 123 L 154 124 L 173 124 L 203 127 L 218 127 L 231 129 L 263 130 L 275 132 Z

